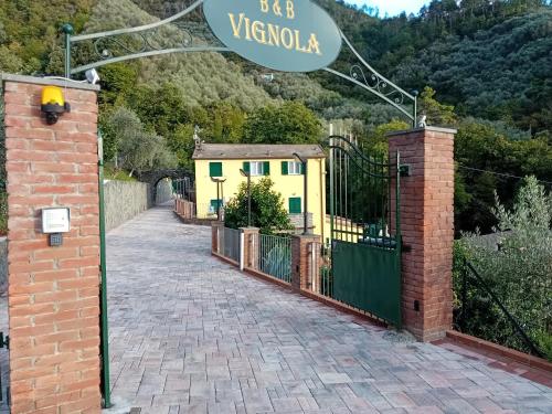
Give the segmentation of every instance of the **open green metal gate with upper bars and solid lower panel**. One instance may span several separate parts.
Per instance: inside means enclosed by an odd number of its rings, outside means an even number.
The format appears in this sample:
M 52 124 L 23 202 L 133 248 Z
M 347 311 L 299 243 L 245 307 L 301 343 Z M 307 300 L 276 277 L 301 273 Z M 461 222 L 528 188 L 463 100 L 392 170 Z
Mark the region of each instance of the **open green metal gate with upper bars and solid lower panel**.
M 330 137 L 331 293 L 401 327 L 400 160 Z

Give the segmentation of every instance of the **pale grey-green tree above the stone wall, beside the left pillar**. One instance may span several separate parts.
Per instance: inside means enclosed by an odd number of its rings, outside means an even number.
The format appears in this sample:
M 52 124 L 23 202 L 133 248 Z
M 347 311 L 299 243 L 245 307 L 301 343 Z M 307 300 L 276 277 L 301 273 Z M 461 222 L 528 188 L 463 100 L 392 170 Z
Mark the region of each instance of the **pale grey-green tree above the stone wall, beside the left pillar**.
M 177 163 L 164 139 L 146 131 L 138 116 L 125 107 L 117 108 L 109 117 L 107 131 L 117 151 L 118 167 L 127 170 L 129 177 Z

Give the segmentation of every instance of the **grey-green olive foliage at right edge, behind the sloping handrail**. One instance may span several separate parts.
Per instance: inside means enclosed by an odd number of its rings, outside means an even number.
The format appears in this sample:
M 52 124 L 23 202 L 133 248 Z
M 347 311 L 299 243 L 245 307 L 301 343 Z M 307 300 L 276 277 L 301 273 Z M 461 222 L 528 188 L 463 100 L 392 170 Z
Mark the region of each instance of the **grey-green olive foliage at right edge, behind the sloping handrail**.
M 467 257 L 485 283 L 512 314 L 529 337 L 543 344 L 552 360 L 552 195 L 529 177 L 508 210 L 498 199 L 492 210 L 498 221 L 499 248 L 466 234 L 457 246 L 455 293 L 461 295 L 461 257 Z M 505 232 L 506 231 L 506 232 Z M 465 330 L 507 347 L 527 351 L 505 315 L 475 285 L 468 291 L 469 316 Z

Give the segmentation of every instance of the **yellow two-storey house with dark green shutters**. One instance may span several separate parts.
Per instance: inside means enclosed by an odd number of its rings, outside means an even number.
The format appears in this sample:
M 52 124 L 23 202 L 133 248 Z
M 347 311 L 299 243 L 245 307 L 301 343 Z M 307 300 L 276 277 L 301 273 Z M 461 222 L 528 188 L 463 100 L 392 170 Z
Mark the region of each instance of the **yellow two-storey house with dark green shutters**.
M 282 194 L 291 222 L 302 230 L 304 171 L 294 152 L 307 161 L 308 213 L 312 233 L 325 240 L 326 155 L 319 145 L 201 144 L 195 147 L 195 203 L 199 219 L 214 217 L 219 204 L 236 195 L 246 182 L 269 177 Z M 223 181 L 224 180 L 224 181 Z M 223 181 L 217 183 L 216 181 Z

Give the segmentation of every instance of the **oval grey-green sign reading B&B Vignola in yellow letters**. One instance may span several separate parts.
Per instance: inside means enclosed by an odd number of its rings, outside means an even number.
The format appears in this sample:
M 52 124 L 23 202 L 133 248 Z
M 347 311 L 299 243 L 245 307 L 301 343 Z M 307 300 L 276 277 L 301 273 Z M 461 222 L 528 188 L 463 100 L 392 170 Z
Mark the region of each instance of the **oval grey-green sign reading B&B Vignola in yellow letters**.
M 341 50 L 339 28 L 310 0 L 204 0 L 203 13 L 230 50 L 276 71 L 317 71 Z

